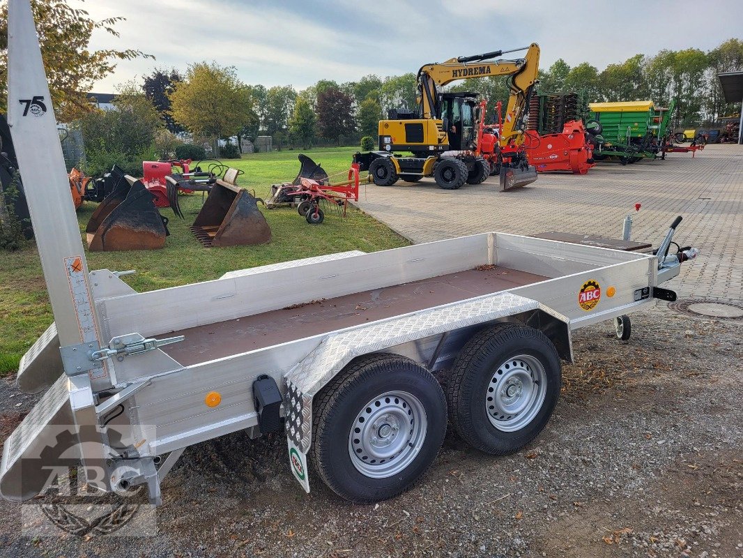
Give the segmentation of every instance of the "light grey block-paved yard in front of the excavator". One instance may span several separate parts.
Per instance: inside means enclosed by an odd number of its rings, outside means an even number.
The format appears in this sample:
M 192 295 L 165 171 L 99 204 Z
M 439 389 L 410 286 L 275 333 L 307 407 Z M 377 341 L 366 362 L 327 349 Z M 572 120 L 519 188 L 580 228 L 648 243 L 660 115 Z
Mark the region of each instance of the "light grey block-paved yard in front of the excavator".
M 622 166 L 603 162 L 587 175 L 542 173 L 528 187 L 499 192 L 493 176 L 481 185 L 441 190 L 433 179 L 412 185 L 363 187 L 359 206 L 415 243 L 484 231 L 561 231 L 620 238 L 635 213 L 632 240 L 658 246 L 672 220 L 674 240 L 699 248 L 669 286 L 680 297 L 740 301 L 743 296 L 743 146 L 709 145 L 666 160 Z

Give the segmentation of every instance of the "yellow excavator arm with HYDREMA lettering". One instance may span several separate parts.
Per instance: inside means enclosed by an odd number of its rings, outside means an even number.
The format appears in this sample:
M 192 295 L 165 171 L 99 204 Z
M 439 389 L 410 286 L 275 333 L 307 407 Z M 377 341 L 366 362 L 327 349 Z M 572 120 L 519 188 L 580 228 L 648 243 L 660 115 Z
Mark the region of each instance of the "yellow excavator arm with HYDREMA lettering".
M 510 52 L 523 51 L 525 57 L 518 60 L 493 60 Z M 439 88 L 456 80 L 471 77 L 510 76 L 508 105 L 504 119 L 501 144 L 520 144 L 522 133 L 520 122 L 528 106 L 529 97 L 536 84 L 539 72 L 539 45 L 532 43 L 525 48 L 511 51 L 493 51 L 470 57 L 457 57 L 446 62 L 426 64 L 418 70 L 418 94 L 421 117 L 437 120 L 441 118 Z

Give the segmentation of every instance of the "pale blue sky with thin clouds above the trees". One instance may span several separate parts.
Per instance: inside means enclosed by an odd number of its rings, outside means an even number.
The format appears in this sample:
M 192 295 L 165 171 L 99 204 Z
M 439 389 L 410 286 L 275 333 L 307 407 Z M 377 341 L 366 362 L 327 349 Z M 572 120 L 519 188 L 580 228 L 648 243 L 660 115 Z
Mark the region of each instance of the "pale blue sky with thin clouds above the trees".
M 155 60 L 118 62 L 95 92 L 189 63 L 233 65 L 248 84 L 305 89 L 428 62 L 539 43 L 540 67 L 562 58 L 602 70 L 663 48 L 708 51 L 743 38 L 743 0 L 68 0 L 93 19 L 123 16 L 120 37 L 90 48 L 136 48 Z M 510 55 L 519 57 L 519 53 Z

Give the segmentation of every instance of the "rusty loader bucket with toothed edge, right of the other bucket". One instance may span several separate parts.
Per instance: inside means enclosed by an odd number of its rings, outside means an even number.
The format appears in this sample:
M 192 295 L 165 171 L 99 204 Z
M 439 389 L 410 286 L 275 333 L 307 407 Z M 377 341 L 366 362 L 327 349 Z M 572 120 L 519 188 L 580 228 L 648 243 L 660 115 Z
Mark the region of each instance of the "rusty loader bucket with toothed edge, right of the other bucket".
M 247 246 L 270 242 L 271 229 L 247 190 L 217 180 L 191 231 L 211 246 Z

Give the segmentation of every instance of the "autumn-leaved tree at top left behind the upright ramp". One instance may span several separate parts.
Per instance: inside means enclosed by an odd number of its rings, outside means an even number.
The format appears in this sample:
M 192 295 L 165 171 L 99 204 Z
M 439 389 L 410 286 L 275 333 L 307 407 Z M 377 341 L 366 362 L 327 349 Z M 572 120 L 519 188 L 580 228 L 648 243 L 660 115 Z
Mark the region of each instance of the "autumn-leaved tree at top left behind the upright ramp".
M 0 3 L 0 111 L 7 111 L 7 4 Z M 117 60 L 137 57 L 153 58 L 142 51 L 112 48 L 93 51 L 88 48 L 96 30 L 119 36 L 114 27 L 124 21 L 110 17 L 100 22 L 88 17 L 85 10 L 74 9 L 64 0 L 32 0 L 33 19 L 39 33 L 39 44 L 49 81 L 51 101 L 56 118 L 71 122 L 93 109 L 85 92 L 94 83 L 111 74 Z

